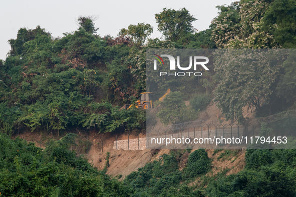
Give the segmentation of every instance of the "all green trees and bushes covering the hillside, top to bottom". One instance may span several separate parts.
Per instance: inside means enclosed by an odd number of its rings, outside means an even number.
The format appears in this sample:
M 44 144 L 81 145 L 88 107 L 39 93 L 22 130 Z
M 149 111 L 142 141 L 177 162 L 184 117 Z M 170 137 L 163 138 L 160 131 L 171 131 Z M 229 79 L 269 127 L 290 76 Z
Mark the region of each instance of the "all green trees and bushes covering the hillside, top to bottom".
M 172 151 L 119 181 L 105 174 L 108 162 L 100 171 L 69 148 L 76 135 L 64 134 L 76 129 L 145 130 L 144 110 L 120 107 L 146 90 L 147 48 L 296 48 L 295 0 L 240 0 L 217 7 L 217 17 L 200 32 L 192 25 L 198 18 L 186 8 L 155 13 L 162 38 L 151 38 L 156 29 L 145 23 L 131 24 L 117 37 L 98 35 L 88 16 L 80 16 L 79 28 L 62 37 L 42 24 L 20 28 L 9 40 L 7 58 L 0 59 L 0 196 L 296 196 L 293 149 L 249 149 L 241 172 L 225 176 L 226 169 L 213 177 L 205 176 L 211 159 L 204 149 Z M 160 88 L 172 88 L 178 102 L 189 96 L 188 108 L 195 113 L 213 98 L 226 120 L 245 121 L 245 106 L 267 116 L 295 108 L 296 49 L 291 51 L 281 64 L 251 71 L 247 65 L 216 66 L 194 79 L 194 87 L 170 87 L 172 80 Z M 174 113 L 186 107 L 180 104 Z M 160 112 L 163 123 L 174 123 Z M 196 118 L 192 114 L 188 119 Z M 30 130 L 64 137 L 44 150 L 10 137 Z M 188 160 L 181 169 L 184 154 Z M 201 183 L 192 186 L 196 180 Z

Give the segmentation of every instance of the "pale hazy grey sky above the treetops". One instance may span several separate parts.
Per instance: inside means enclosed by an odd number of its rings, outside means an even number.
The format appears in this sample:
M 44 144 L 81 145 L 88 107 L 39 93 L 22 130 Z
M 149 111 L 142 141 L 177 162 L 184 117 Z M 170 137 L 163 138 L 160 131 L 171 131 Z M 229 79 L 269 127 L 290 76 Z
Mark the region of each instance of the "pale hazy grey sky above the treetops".
M 138 22 L 153 26 L 151 37 L 160 37 L 155 13 L 164 7 L 180 9 L 185 7 L 198 20 L 193 22 L 198 31 L 208 28 L 217 16 L 216 5 L 235 0 L 2 0 L 0 21 L 0 59 L 6 59 L 10 45 L 8 40 L 16 38 L 21 27 L 35 28 L 40 25 L 53 36 L 63 36 L 63 32 L 75 31 L 75 19 L 79 15 L 96 15 L 97 31 L 101 36 L 116 36 L 121 28 Z

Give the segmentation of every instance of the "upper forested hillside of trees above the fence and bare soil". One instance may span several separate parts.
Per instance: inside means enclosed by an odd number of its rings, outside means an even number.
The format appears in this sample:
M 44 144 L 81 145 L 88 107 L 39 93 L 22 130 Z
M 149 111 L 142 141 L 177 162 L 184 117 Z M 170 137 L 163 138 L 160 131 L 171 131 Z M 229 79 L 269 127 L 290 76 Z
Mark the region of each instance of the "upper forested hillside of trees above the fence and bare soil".
M 145 90 L 146 48 L 292 48 L 296 45 L 293 0 L 242 0 L 218 8 L 219 15 L 210 28 L 201 32 L 193 28 L 191 23 L 196 18 L 185 8 L 164 8 L 155 14 L 163 40 L 149 38 L 153 29 L 144 23 L 121 29 L 118 37 L 97 35 L 92 18 L 84 16 L 78 19 L 79 28 L 64 33 L 63 37 L 54 38 L 40 26 L 20 28 L 17 39 L 9 40 L 12 49 L 0 65 L 0 129 L 6 133 L 28 129 L 59 133 L 74 127 L 98 132 L 141 131 L 144 112 L 120 110 L 117 106 L 134 102 Z M 231 106 L 235 108 L 232 114 L 228 106 L 237 92 L 229 94 L 231 98 L 226 101 L 221 96 L 226 84 L 221 81 L 227 78 L 219 74 L 230 68 L 211 69 L 196 81 L 194 89 L 173 91 L 194 95 L 215 89 L 214 100 L 226 118 L 241 118 L 245 103 L 255 107 L 260 116 L 268 115 L 286 109 L 295 101 L 294 57 L 289 59 L 278 65 L 271 82 L 266 81 L 271 83 L 265 87 L 270 90 L 268 93 L 237 101 Z M 244 81 L 246 77 L 237 80 Z M 258 86 L 256 82 L 252 81 L 253 86 Z M 168 88 L 167 84 L 161 87 Z M 261 103 L 258 96 L 264 97 Z M 279 106 L 276 103 L 287 104 L 276 108 Z

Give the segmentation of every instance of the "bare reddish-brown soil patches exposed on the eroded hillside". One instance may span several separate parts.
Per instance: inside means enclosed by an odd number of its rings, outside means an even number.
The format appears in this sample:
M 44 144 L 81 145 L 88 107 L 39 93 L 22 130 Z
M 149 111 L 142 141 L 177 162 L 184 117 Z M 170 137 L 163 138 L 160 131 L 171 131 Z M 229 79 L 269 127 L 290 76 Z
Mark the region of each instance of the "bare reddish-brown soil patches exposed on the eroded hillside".
M 187 103 L 188 104 L 188 103 Z M 243 115 L 244 117 L 253 118 L 254 113 L 250 111 L 246 111 L 246 107 L 244 107 Z M 215 107 L 213 101 L 206 107 L 204 111 L 201 111 L 198 119 L 217 119 L 218 115 L 221 120 L 223 120 L 223 116 L 218 111 L 218 108 Z M 169 149 L 160 149 L 160 150 L 116 150 L 113 149 L 114 140 L 116 140 L 116 135 L 111 135 L 111 133 L 98 134 L 96 131 L 90 131 L 88 135 L 83 135 L 80 132 L 76 132 L 79 134 L 81 138 L 87 138 L 91 141 L 92 145 L 86 154 L 88 160 L 94 164 L 98 169 L 103 169 L 106 161 L 106 153 L 110 152 L 109 157 L 109 167 L 107 170 L 107 174 L 112 176 L 116 176 L 122 174 L 124 178 L 126 175 L 130 174 L 133 171 L 136 171 L 139 167 L 143 167 L 147 162 L 153 161 L 154 159 L 159 159 L 159 157 L 166 153 L 169 154 L 171 150 Z M 51 138 L 61 138 L 56 135 L 52 135 L 50 133 L 34 133 L 31 131 L 23 132 L 20 135 L 20 138 L 25 138 L 28 141 L 36 142 L 37 146 L 40 146 L 40 139 L 42 139 L 41 147 L 45 148 L 45 142 L 50 140 Z M 15 138 L 14 136 L 13 138 Z M 103 137 L 103 151 L 102 151 L 102 137 Z M 137 138 L 138 136 L 130 135 L 129 138 Z M 140 134 L 140 137 L 145 137 L 144 134 Z M 119 134 L 117 136 L 118 140 L 127 139 L 128 134 Z M 193 152 L 194 149 L 191 150 Z M 215 175 L 218 172 L 223 171 L 224 169 L 230 169 L 226 175 L 237 173 L 241 169 L 243 169 L 244 162 L 244 151 L 237 151 L 237 153 L 232 156 L 230 155 L 228 158 L 217 160 L 217 157 L 224 152 L 224 150 L 217 152 L 213 155 L 214 149 L 206 149 L 208 156 L 212 159 L 212 172 L 208 172 L 206 175 Z M 179 168 L 182 169 L 187 160 L 189 153 L 183 155 L 179 161 Z M 198 179 L 192 184 L 198 182 Z

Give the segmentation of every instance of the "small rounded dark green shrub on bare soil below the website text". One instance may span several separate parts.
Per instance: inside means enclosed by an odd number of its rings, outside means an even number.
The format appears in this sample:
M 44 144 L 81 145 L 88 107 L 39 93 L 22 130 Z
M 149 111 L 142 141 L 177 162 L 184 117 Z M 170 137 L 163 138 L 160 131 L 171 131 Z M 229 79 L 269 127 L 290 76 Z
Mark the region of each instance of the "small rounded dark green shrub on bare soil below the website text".
M 188 157 L 188 162 L 184 168 L 184 177 L 195 177 L 206 173 L 210 163 L 210 158 L 204 149 L 195 150 Z

